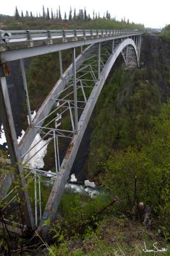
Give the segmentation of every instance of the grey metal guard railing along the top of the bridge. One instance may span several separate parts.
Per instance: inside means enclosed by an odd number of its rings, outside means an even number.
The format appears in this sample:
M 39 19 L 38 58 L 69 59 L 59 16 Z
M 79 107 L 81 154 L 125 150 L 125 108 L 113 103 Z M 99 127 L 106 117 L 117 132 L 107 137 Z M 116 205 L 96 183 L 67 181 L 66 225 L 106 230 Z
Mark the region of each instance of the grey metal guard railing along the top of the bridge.
M 57 29 L 57 30 L 0 30 L 0 43 L 20 40 L 42 40 L 46 38 L 68 38 L 78 36 L 134 35 L 140 31 L 123 29 Z

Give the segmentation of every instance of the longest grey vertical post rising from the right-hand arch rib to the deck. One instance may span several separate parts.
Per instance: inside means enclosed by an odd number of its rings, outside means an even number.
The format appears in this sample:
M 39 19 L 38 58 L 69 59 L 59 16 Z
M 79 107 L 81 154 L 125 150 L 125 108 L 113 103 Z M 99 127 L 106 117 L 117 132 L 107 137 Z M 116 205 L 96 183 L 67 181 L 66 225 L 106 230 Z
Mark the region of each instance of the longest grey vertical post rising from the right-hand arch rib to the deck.
M 73 59 L 73 86 L 74 86 L 74 122 L 75 132 L 78 132 L 78 111 L 77 111 L 77 88 L 76 88 L 76 51 L 72 48 L 72 59 Z

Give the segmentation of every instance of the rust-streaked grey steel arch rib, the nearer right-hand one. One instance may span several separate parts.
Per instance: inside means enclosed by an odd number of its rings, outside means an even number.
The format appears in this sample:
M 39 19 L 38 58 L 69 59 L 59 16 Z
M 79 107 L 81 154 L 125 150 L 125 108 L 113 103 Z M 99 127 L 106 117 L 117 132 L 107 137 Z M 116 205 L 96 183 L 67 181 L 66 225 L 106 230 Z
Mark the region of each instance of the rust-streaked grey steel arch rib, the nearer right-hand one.
M 133 47 L 134 54 L 136 57 L 136 60 L 135 60 L 136 66 L 139 66 L 138 52 L 136 49 L 136 44 L 130 38 L 127 38 L 123 42 L 120 42 L 117 45 L 117 47 L 115 47 L 113 53 L 110 54 L 108 61 L 106 62 L 106 64 L 103 67 L 103 70 L 101 71 L 100 79 L 98 79 L 96 81 L 96 84 L 90 94 L 90 97 L 87 100 L 85 108 L 83 109 L 83 113 L 81 113 L 81 116 L 80 116 L 80 119 L 78 122 L 78 132 L 74 133 L 73 138 L 71 139 L 71 142 L 69 143 L 67 152 L 66 152 L 65 157 L 60 166 L 60 172 L 57 175 L 57 179 L 54 182 L 52 192 L 50 194 L 50 197 L 48 198 L 48 202 L 45 207 L 41 225 L 39 227 L 39 231 L 43 232 L 43 234 L 46 234 L 46 227 L 43 226 L 43 222 L 46 220 L 46 218 L 50 218 L 50 220 L 55 219 L 55 212 L 57 210 L 57 207 L 60 202 L 60 198 L 64 191 L 64 186 L 69 177 L 69 172 L 71 171 L 71 167 L 73 165 L 74 159 L 78 152 L 78 148 L 80 146 L 81 139 L 83 138 L 83 134 L 84 134 L 87 124 L 89 122 L 90 116 L 92 114 L 94 106 L 96 105 L 97 99 L 99 97 L 99 94 L 101 93 L 101 90 L 104 86 L 104 83 L 105 83 L 107 77 L 108 77 L 108 74 L 110 73 L 110 70 L 113 67 L 118 56 L 125 49 L 125 47 L 127 47 L 129 45 Z M 85 52 L 90 51 L 91 47 L 92 46 L 90 45 L 90 47 L 88 47 L 88 49 Z M 77 63 L 78 63 L 78 60 L 77 60 Z

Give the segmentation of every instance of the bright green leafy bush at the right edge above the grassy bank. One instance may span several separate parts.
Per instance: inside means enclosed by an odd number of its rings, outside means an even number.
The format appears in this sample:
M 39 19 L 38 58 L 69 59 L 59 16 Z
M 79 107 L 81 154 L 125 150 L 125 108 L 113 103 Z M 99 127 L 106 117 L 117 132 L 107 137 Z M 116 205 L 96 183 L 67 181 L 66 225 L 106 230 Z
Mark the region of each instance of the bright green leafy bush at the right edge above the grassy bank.
M 153 128 L 140 147 L 113 150 L 104 163 L 102 180 L 121 200 L 124 210 L 131 209 L 137 197 L 137 202 L 153 205 L 159 219 L 164 221 L 170 214 L 170 102 L 150 122 Z

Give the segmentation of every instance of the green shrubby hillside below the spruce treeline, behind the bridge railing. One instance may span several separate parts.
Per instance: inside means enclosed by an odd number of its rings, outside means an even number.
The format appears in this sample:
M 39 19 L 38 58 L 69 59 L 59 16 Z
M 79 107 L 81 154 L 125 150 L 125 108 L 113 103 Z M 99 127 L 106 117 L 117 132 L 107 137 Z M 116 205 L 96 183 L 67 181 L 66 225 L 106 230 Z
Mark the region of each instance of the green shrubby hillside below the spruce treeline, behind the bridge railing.
M 98 18 L 91 19 L 46 19 L 43 17 L 12 17 L 0 14 L 0 29 L 145 29 L 143 24 L 129 20 Z

